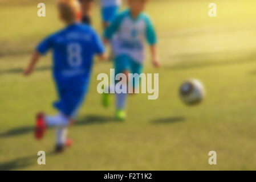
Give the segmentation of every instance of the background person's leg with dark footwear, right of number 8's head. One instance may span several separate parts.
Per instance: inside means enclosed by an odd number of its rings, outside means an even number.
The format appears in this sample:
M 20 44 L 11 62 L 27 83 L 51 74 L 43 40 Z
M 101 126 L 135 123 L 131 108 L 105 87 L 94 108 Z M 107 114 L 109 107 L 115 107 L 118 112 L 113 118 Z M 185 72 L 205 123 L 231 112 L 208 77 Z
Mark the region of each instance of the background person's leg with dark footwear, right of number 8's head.
M 82 23 L 91 25 L 93 0 L 79 0 L 82 7 Z

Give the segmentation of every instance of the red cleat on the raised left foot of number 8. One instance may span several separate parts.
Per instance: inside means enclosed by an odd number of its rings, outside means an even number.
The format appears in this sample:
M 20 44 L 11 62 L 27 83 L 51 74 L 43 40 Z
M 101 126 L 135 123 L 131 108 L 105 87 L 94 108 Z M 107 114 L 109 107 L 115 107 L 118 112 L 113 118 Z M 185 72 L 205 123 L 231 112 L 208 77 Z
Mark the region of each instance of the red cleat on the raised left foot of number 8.
M 36 124 L 35 124 L 35 138 L 40 140 L 43 138 L 44 133 L 46 132 L 46 122 L 44 121 L 44 114 L 38 113 L 36 115 Z

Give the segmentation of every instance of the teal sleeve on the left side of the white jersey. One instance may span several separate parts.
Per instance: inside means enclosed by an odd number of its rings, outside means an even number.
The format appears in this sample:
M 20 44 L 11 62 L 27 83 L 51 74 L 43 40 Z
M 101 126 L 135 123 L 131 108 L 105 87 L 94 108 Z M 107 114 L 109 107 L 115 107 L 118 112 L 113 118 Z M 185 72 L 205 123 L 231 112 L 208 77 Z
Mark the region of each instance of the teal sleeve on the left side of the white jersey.
M 117 15 L 115 19 L 113 19 L 112 23 L 106 28 L 104 31 L 104 38 L 111 39 L 112 36 L 119 29 L 121 21 L 123 20 L 123 14 Z

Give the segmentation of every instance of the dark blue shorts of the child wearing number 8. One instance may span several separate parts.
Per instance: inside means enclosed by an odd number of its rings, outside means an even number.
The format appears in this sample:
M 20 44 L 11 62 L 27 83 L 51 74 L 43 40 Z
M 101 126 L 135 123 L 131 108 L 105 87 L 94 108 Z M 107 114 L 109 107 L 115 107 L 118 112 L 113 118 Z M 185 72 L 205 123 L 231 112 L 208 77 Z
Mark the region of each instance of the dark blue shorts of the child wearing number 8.
M 88 89 L 89 79 L 84 78 L 56 78 L 55 84 L 59 100 L 54 107 L 68 118 L 75 119 Z

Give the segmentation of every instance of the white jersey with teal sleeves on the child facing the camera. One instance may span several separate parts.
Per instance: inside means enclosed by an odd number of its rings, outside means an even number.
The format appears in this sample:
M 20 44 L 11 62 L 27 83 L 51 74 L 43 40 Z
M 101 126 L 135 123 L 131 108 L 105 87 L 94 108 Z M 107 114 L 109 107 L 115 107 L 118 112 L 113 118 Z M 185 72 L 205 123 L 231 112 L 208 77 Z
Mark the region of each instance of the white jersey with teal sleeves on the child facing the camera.
M 145 42 L 156 44 L 156 32 L 149 17 L 142 13 L 133 19 L 129 10 L 116 16 L 105 30 L 104 37 L 112 40 L 116 56 L 127 55 L 138 63 L 145 58 Z

